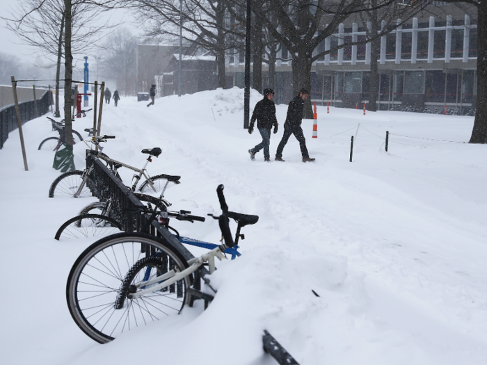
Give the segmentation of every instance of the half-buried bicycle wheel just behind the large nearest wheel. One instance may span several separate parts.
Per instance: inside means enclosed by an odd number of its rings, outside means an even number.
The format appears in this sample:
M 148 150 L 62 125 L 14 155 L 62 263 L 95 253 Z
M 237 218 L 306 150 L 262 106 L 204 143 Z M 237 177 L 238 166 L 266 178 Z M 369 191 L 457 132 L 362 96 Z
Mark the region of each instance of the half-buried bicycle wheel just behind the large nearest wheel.
M 88 238 L 108 236 L 122 232 L 122 226 L 113 218 L 101 214 L 83 214 L 67 220 L 56 232 L 59 238 Z

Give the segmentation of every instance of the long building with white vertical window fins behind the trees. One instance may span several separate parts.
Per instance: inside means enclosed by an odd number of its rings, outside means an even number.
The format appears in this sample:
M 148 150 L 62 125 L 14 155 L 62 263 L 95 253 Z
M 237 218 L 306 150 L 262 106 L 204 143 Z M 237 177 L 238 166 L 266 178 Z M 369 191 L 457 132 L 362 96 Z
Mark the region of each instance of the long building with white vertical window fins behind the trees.
M 477 13 L 474 7 L 436 1 L 423 15 L 381 38 L 378 56 L 378 108 L 472 114 L 477 69 Z M 365 29 L 340 24 L 320 45 L 333 49 L 365 39 Z M 312 65 L 311 99 L 317 104 L 355 108 L 369 99 L 370 44 L 327 54 Z M 227 57 L 233 85 L 244 87 L 242 54 Z M 264 88 L 269 67 L 263 65 Z M 276 102 L 292 98 L 292 61 L 286 49 L 276 62 Z

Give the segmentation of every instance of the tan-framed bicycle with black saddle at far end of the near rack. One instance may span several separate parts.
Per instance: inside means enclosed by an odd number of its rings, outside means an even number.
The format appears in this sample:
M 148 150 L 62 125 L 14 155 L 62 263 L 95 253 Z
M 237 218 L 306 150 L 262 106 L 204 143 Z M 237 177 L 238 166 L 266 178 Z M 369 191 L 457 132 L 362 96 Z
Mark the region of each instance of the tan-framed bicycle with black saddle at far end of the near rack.
M 106 154 L 102 153 L 103 147 L 99 145 L 102 142 L 106 142 L 107 139 L 113 139 L 115 136 L 97 136 L 93 137 L 90 140 L 84 141 L 85 143 L 92 143 L 93 145 L 97 146 L 99 151 L 95 151 L 94 149 L 88 150 L 87 153 L 95 154 L 100 160 L 104 161 L 107 166 L 112 170 L 112 172 L 120 178 L 118 175 L 118 168 L 124 167 L 128 168 L 129 170 L 135 171 L 136 174 L 132 177 L 132 186 L 131 190 L 135 191 L 136 187 L 141 181 L 142 177 L 144 178 L 143 183 L 138 188 L 138 191 L 142 193 L 158 193 L 160 197 L 163 197 L 164 192 L 168 188 L 169 184 L 180 184 L 179 179 L 180 176 L 172 176 L 172 175 L 156 175 L 154 177 L 150 177 L 146 168 L 147 164 L 152 162 L 152 156 L 159 157 L 162 153 L 162 150 L 159 147 L 154 147 L 152 149 L 143 149 L 141 152 L 143 154 L 148 154 L 147 160 L 143 168 L 135 168 L 134 166 L 127 165 L 127 163 L 122 163 L 120 161 L 113 160 L 106 156 Z M 49 188 L 49 197 L 58 197 L 58 196 L 70 196 L 70 197 L 88 197 L 92 196 L 90 187 L 93 187 L 93 181 L 90 180 L 90 169 L 81 170 L 74 170 L 68 171 L 64 174 L 59 175 L 51 184 Z M 120 178 L 121 179 L 121 178 Z

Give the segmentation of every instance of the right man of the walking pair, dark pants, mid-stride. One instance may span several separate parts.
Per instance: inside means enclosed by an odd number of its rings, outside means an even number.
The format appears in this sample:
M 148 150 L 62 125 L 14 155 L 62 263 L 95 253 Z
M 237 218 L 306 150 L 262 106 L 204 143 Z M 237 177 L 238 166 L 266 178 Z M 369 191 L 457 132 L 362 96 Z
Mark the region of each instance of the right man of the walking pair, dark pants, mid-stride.
M 303 106 L 304 101 L 308 98 L 310 92 L 306 89 L 301 89 L 299 95 L 297 95 L 289 103 L 287 108 L 286 122 L 284 123 L 284 134 L 282 135 L 282 140 L 278 145 L 278 150 L 276 151 L 276 161 L 283 161 L 282 159 L 282 149 L 289 140 L 289 137 L 294 134 L 294 137 L 299 142 L 299 148 L 301 149 L 301 155 L 303 156 L 303 162 L 312 162 L 314 159 L 310 158 L 308 154 L 308 149 L 306 148 L 306 140 L 304 138 L 303 129 L 301 129 L 301 121 L 303 120 Z

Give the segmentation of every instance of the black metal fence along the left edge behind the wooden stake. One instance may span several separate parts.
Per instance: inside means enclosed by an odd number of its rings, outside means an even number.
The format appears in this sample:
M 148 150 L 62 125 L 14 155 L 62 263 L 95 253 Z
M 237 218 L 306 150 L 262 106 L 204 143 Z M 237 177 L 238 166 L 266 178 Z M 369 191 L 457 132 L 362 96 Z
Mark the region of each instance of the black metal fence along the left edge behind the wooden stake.
M 49 111 L 49 106 L 51 106 L 51 99 L 52 97 L 49 95 L 49 91 L 46 90 L 42 97 L 36 101 L 38 115 L 35 115 L 35 104 L 33 100 L 19 103 L 20 120 L 22 125 L 35 117 L 47 113 Z M 15 104 L 0 108 L 0 149 L 3 148 L 3 143 L 5 143 L 7 140 L 8 133 L 15 131 L 15 129 L 18 127 L 17 114 L 15 114 Z

